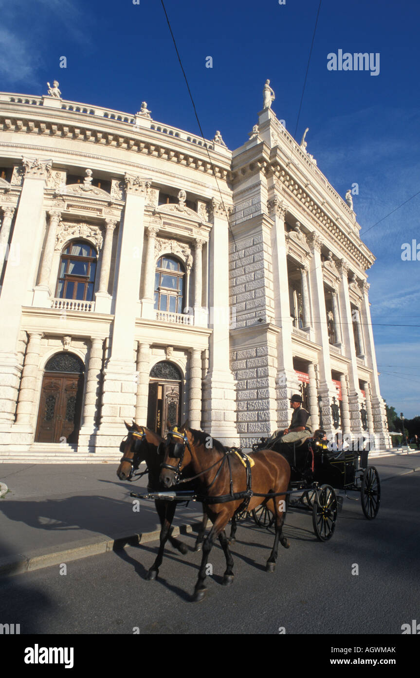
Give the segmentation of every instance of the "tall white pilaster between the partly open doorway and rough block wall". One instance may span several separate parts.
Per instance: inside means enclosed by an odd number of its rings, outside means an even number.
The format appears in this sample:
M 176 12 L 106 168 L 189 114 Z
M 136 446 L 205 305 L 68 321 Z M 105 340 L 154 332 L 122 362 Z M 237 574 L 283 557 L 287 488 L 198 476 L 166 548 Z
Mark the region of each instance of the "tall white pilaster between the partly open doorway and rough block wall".
M 229 227 L 223 204 L 212 199 L 209 304 L 214 309 L 204 379 L 203 426 L 225 445 L 237 445 L 235 382 L 229 365 Z

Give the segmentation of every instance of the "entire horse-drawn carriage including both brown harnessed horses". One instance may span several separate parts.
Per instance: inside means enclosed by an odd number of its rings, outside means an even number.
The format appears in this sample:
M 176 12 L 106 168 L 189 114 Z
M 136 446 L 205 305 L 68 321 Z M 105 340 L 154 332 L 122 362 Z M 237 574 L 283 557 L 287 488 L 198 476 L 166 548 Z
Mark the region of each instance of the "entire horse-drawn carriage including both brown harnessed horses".
M 160 549 L 148 578 L 158 576 L 166 540 L 171 539 L 170 526 L 178 501 L 196 500 L 204 506 L 196 550 L 203 542 L 207 517 L 213 523 L 202 547 L 195 601 L 204 597 L 207 561 L 216 538 L 220 540 L 227 563 L 223 584 L 233 581 L 229 544 L 235 540 L 236 521 L 243 513 L 252 513 L 258 525 L 273 525 L 275 540 L 266 561 L 266 572 L 274 572 L 279 542 L 285 549 L 289 548 L 282 534 L 287 504 L 312 511 L 314 532 L 321 541 L 331 538 L 335 530 L 340 500 L 335 490 L 360 492 L 363 513 L 368 519 L 374 518 L 379 510 L 379 477 L 374 466 L 367 466 L 367 452 L 363 452 L 359 466 L 358 454 L 330 452 L 326 441 L 314 437 L 302 445 L 280 443 L 280 449 L 277 443 L 267 447 L 262 441 L 248 456 L 237 448 L 224 447 L 202 431 L 190 429 L 187 422 L 181 428 L 168 424 L 166 440 L 134 422 L 126 427 L 129 435 L 120 445 L 123 457 L 117 475 L 121 480 L 130 480 L 139 463 L 146 460 L 147 494 L 131 492 L 131 496 L 154 499 L 162 523 Z M 189 489 L 179 490 L 179 486 Z M 230 541 L 225 534 L 229 520 L 233 523 Z M 181 548 L 183 544 L 171 541 L 185 553 Z

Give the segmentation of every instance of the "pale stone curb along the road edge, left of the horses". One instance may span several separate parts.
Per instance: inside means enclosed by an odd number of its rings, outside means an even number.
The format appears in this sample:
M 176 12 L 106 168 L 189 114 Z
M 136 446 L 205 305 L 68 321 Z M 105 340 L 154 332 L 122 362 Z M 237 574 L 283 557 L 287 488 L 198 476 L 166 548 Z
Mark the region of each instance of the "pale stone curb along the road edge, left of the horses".
M 174 527 L 172 536 L 176 537 L 180 534 L 194 532 L 198 525 L 200 523 L 185 523 L 180 527 Z M 61 563 L 68 563 L 72 560 L 79 560 L 91 555 L 107 553 L 108 551 L 118 551 L 124 549 L 124 546 L 127 545 L 138 546 L 139 544 L 154 542 L 159 539 L 159 536 L 160 530 L 154 530 L 153 532 L 127 534 L 116 539 L 98 540 L 97 542 L 87 538 L 78 540 L 73 544 L 63 544 L 61 551 L 45 553 L 41 549 L 39 551 L 30 551 L 27 555 L 18 553 L 16 555 L 5 556 L 0 558 L 0 578 L 23 574 L 24 572 L 33 572 L 34 570 L 41 570 L 43 567 L 60 565 Z M 64 548 L 64 546 L 68 546 L 68 548 Z

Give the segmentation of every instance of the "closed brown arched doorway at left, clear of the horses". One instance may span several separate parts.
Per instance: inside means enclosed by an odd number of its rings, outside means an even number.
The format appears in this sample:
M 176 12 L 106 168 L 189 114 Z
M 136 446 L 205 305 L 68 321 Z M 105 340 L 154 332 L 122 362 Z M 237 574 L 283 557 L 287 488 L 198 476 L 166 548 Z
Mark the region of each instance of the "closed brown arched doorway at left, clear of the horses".
M 45 365 L 37 443 L 77 443 L 85 365 L 74 353 L 56 353 Z

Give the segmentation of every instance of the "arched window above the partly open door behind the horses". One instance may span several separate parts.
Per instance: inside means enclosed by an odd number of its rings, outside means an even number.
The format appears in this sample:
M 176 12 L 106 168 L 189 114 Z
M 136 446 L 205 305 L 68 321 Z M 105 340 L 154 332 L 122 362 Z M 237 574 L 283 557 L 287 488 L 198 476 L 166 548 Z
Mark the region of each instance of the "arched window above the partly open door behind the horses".
M 156 264 L 154 308 L 156 311 L 182 313 L 185 271 L 174 257 L 161 256 Z

